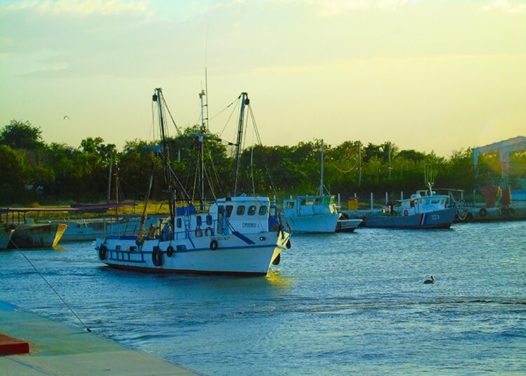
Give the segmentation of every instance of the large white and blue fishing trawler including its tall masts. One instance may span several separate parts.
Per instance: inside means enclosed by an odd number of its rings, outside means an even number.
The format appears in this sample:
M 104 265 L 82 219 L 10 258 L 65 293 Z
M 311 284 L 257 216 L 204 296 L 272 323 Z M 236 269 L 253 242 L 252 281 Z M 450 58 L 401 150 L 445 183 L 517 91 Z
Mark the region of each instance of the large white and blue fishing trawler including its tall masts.
M 201 97 L 201 109 L 203 105 Z M 240 126 L 243 126 L 248 95 L 242 93 Z M 231 196 L 204 201 L 203 140 L 207 135 L 205 116 L 196 134 L 199 149 L 200 203 L 194 206 L 175 172 L 170 168 L 166 141 L 163 93 L 156 88 L 153 96 L 159 109 L 161 145 L 154 151 L 163 162 L 168 184 L 170 220 L 160 227 L 150 226 L 144 233 L 144 217 L 136 236 L 107 236 L 97 239 L 95 249 L 101 262 L 118 269 L 192 274 L 234 274 L 264 276 L 271 264 L 278 264 L 281 251 L 290 248 L 290 234 L 283 230 L 277 210 L 268 197 L 236 196 L 236 176 L 241 145 L 238 132 L 234 189 Z M 208 117 L 208 116 L 207 116 Z M 152 177 L 150 176 L 149 189 Z M 176 192 L 181 196 L 177 199 Z M 146 196 L 149 197 L 149 194 Z M 271 215 L 274 210 L 274 215 Z M 144 212 L 143 212 L 144 214 Z

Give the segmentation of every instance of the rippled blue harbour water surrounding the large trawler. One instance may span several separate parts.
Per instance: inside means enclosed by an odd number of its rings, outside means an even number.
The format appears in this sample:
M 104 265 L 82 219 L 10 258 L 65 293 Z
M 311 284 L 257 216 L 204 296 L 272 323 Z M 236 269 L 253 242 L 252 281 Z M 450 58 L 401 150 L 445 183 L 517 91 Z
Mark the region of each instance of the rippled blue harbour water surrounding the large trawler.
M 116 271 L 93 247 L 26 254 L 95 333 L 204 373 L 526 372 L 526 222 L 298 235 L 260 278 Z M 75 323 L 18 252 L 0 299 Z

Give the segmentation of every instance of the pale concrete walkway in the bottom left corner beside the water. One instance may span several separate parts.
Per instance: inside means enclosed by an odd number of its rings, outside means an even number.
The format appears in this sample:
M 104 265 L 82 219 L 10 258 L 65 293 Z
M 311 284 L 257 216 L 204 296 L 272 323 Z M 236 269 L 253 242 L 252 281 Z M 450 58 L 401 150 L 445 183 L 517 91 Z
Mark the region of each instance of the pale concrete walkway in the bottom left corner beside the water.
M 144 351 L 1 300 L 0 333 L 28 341 L 31 351 L 0 356 L 1 375 L 196 375 Z

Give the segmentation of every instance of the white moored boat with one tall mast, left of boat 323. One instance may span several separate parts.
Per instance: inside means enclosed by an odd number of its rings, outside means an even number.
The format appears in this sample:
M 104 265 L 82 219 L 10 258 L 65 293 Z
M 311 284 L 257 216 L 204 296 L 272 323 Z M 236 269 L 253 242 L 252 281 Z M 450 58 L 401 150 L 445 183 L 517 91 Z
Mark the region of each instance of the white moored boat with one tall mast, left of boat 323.
M 323 184 L 323 140 L 321 140 L 321 180 L 316 195 L 296 196 L 283 201 L 283 214 L 292 232 L 331 233 L 340 218 L 334 196 Z

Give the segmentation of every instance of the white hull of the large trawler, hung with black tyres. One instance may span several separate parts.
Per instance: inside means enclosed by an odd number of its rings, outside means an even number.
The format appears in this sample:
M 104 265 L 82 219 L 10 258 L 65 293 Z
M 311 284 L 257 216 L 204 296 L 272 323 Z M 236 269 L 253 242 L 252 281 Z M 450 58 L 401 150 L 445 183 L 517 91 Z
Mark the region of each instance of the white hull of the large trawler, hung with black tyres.
M 260 234 L 201 236 L 173 241 L 146 240 L 139 247 L 135 237 L 97 239 L 99 259 L 109 267 L 180 274 L 267 275 L 271 263 L 281 254 L 290 235 L 275 231 Z M 217 249 L 211 249 L 211 242 Z M 106 248 L 101 255 L 101 247 Z M 173 255 L 168 257 L 168 247 Z M 154 264 L 154 247 L 159 247 L 161 264 Z M 105 257 L 104 257 L 105 256 Z

